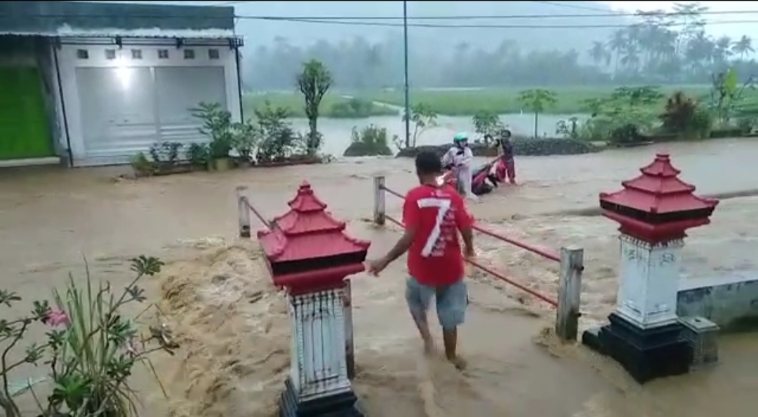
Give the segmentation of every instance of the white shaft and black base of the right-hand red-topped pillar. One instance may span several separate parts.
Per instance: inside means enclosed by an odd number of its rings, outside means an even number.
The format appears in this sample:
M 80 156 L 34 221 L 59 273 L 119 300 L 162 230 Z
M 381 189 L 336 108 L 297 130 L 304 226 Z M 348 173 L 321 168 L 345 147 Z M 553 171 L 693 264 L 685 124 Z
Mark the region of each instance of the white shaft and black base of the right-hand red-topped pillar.
M 676 315 L 681 239 L 650 244 L 621 241 L 619 293 L 609 324 L 590 329 L 582 343 L 621 363 L 640 384 L 689 371 L 692 350 Z

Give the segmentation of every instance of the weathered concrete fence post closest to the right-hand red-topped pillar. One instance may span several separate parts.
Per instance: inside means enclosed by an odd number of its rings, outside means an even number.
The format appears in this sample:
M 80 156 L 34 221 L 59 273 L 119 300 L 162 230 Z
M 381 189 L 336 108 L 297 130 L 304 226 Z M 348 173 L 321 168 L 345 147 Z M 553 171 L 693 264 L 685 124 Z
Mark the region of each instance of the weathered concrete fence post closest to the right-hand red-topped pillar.
M 561 272 L 558 287 L 556 335 L 560 340 L 576 340 L 581 304 L 581 272 L 584 249 L 561 248 Z

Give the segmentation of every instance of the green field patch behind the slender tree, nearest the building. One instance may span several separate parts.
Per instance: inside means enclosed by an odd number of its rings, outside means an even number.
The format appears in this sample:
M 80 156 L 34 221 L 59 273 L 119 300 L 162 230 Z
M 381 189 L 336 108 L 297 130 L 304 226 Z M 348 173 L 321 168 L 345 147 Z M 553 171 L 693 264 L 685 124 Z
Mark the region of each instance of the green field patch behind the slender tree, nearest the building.
M 263 108 L 265 102 L 275 107 L 290 110 L 291 117 L 305 118 L 302 94 L 299 92 L 246 93 L 243 96 L 246 117 L 252 117 L 253 110 Z M 368 118 L 370 116 L 396 115 L 397 111 L 371 102 L 362 102 L 358 109 L 349 108 L 349 98 L 337 92 L 329 92 L 321 101 L 321 117 L 324 118 Z

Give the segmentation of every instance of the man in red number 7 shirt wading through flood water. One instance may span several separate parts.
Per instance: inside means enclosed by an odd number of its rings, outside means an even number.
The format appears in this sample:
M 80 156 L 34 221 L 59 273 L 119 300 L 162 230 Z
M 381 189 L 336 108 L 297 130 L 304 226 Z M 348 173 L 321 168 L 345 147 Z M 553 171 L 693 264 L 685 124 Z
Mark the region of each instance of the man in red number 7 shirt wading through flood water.
M 421 185 L 406 194 L 402 221 L 406 232 L 381 259 L 370 262 L 368 270 L 378 274 L 390 262 L 408 252 L 409 277 L 406 301 L 424 340 L 424 349 L 434 350 L 427 321 L 431 299 L 436 298 L 437 318 L 442 326 L 445 356 L 458 368 L 464 362 L 456 354 L 457 328 L 463 323 L 468 297 L 463 282 L 463 259 L 458 240 L 460 231 L 464 255 L 474 256 L 471 226 L 462 197 L 449 185 L 437 183 L 442 172 L 440 158 L 431 152 L 416 157 L 416 174 Z

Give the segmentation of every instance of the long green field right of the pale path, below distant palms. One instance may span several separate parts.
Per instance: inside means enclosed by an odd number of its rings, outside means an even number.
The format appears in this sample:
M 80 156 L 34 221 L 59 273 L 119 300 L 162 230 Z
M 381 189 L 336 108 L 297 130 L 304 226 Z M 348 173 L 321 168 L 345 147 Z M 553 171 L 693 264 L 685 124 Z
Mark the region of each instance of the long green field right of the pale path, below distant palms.
M 553 108 L 549 108 L 549 114 L 577 114 L 584 112 L 583 102 L 586 99 L 600 99 L 608 96 L 614 86 L 581 86 L 581 87 L 556 87 L 550 89 L 556 93 L 558 102 Z M 411 90 L 411 105 L 426 103 L 437 114 L 448 116 L 471 116 L 477 111 L 487 110 L 496 113 L 519 113 L 522 105 L 518 102 L 518 92 L 528 89 L 518 87 L 513 89 L 413 89 Z M 707 94 L 709 86 L 664 86 L 662 92 L 666 95 L 675 91 L 684 91 L 689 96 L 702 96 Z M 359 94 L 362 99 L 368 101 L 386 102 L 392 105 L 403 105 L 402 90 L 390 90 L 381 92 L 364 92 Z M 661 106 L 664 104 L 661 100 Z

